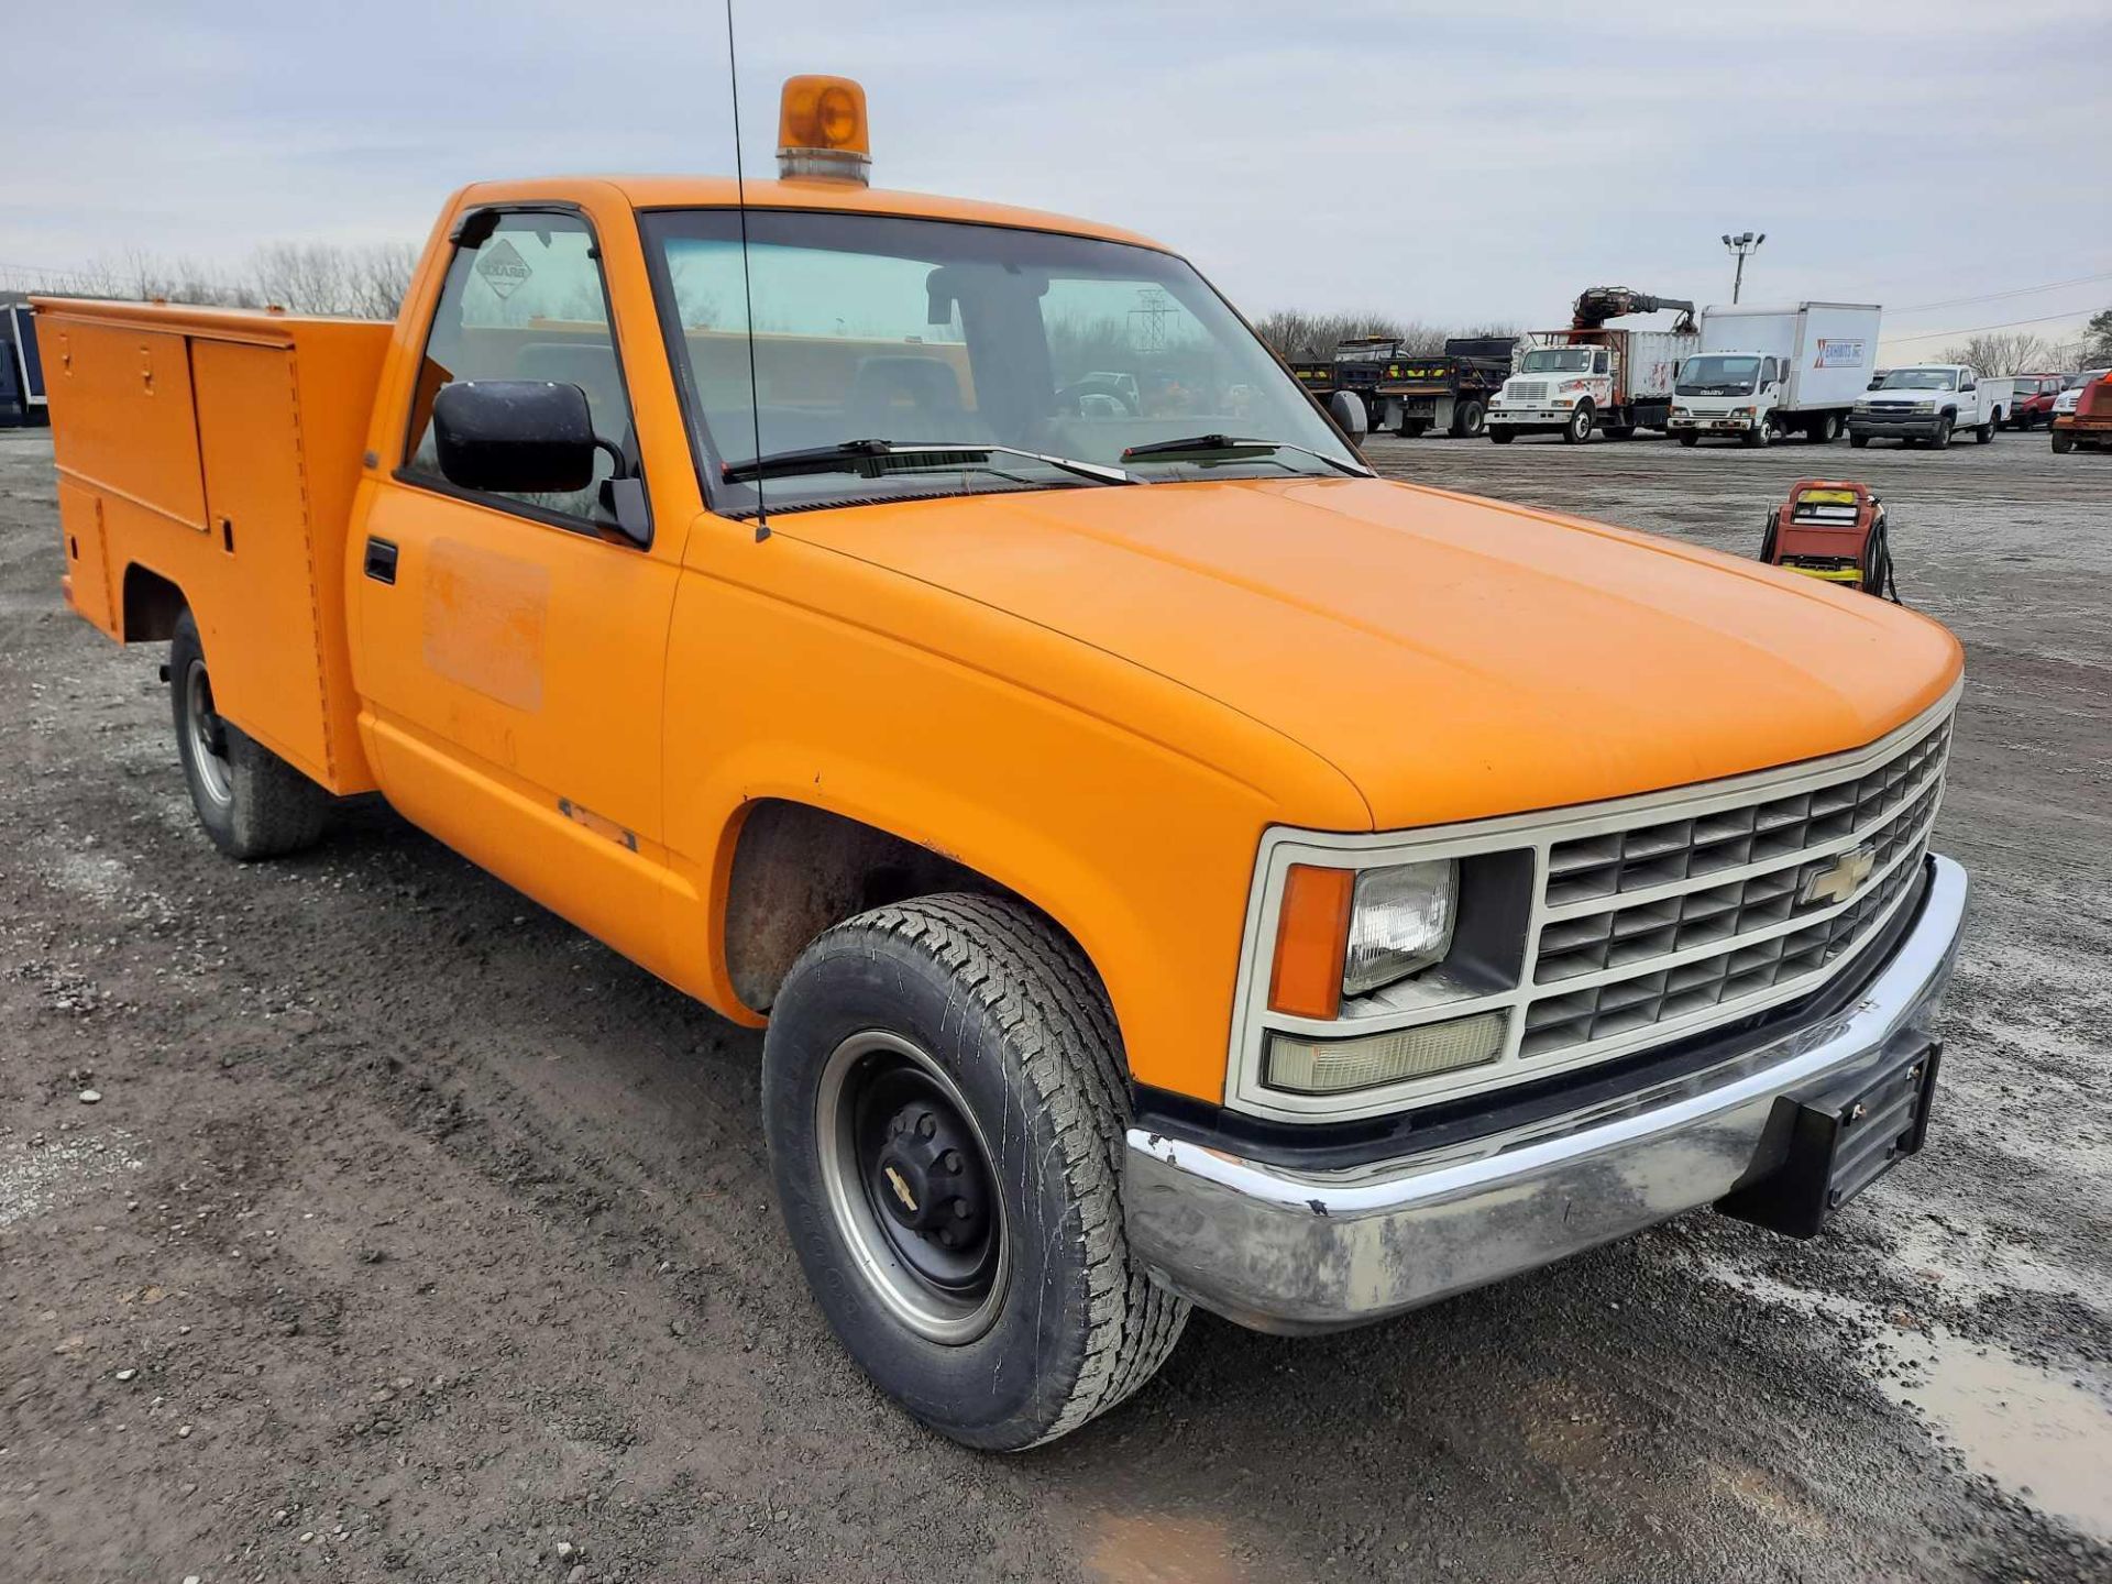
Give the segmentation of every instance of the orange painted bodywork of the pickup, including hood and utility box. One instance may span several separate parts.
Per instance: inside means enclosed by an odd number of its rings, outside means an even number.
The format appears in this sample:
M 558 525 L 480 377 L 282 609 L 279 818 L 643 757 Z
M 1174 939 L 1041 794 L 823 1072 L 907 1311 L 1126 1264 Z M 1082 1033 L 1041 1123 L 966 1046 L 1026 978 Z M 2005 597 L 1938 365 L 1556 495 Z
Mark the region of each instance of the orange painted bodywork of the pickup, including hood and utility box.
M 1793 762 L 1882 737 L 1958 676 L 1949 634 L 1867 596 L 1377 479 L 817 509 L 758 543 L 703 507 L 634 213 L 733 196 L 465 188 L 395 327 L 40 304 L 76 608 L 122 638 L 129 577 L 180 585 L 237 724 L 338 792 L 380 786 L 741 1020 L 722 900 L 758 798 L 942 851 L 1077 936 L 1140 1081 L 1210 1100 L 1267 826 L 1409 828 Z M 748 196 L 1145 243 L 838 184 Z M 646 549 L 395 475 L 448 228 L 501 201 L 577 205 L 598 232 Z M 247 473 L 222 460 L 243 454 Z M 363 577 L 370 536 L 399 547 L 395 585 Z

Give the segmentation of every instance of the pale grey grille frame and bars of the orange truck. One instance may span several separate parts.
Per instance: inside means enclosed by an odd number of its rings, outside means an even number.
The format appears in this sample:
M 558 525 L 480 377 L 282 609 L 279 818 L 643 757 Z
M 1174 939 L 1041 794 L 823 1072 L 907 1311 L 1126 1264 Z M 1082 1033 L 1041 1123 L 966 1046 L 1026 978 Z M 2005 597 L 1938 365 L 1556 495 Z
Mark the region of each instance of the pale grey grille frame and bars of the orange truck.
M 1844 898 L 1831 908 L 1799 912 L 1789 921 L 1778 925 L 1753 925 L 1751 929 L 1726 940 L 1709 942 L 1702 946 L 1690 946 L 1679 953 L 1668 953 L 1662 959 L 1624 963 L 1620 967 L 1599 969 L 1595 974 L 1582 974 L 1569 980 L 1552 980 L 1548 984 L 1535 982 L 1535 967 L 1540 955 L 1542 929 L 1548 923 L 1590 914 L 1605 910 L 1609 906 L 1641 906 L 1652 900 L 1681 895 L 1687 891 L 1700 891 L 1715 885 L 1728 885 L 1740 879 L 1766 874 L 1772 870 L 1789 868 L 1793 864 L 1808 864 L 1816 857 L 1827 857 L 1833 853 L 1846 853 L 1865 843 L 1873 830 L 1882 830 L 1888 819 L 1901 815 L 1905 807 L 1882 811 L 1867 824 L 1844 832 L 1840 836 L 1829 836 L 1814 841 L 1808 847 L 1799 847 L 1793 853 L 1776 855 L 1772 860 L 1755 860 L 1742 866 L 1723 868 L 1713 874 L 1687 876 L 1656 887 L 1637 887 L 1635 891 L 1611 893 L 1603 898 L 1588 898 L 1567 904 L 1548 902 L 1548 855 L 1561 843 L 1599 836 L 1609 832 L 1626 832 L 1639 826 L 1649 826 L 1666 819 L 1704 819 L 1709 815 L 1742 809 L 1755 803 L 1768 803 L 1785 796 L 1799 796 L 1806 792 L 1816 792 L 1823 788 L 1833 788 L 1846 781 L 1861 779 L 1869 771 L 1882 769 L 1907 750 L 1911 750 L 1922 737 L 1939 731 L 1954 714 L 1958 705 L 1958 695 L 1962 684 L 1954 684 L 1937 703 L 1918 714 L 1907 724 L 1886 733 L 1867 748 L 1848 750 L 1844 754 L 1833 754 L 1827 758 L 1804 760 L 1799 765 L 1787 765 L 1780 769 L 1755 771 L 1749 775 L 1734 775 L 1721 781 L 1700 781 L 1681 788 L 1668 788 L 1664 792 L 1645 792 L 1633 798 L 1616 798 L 1609 803 L 1588 803 L 1567 809 L 1548 809 L 1535 813 L 1502 815 L 1495 819 L 1476 819 L 1457 826 L 1432 826 L 1428 830 L 1388 830 L 1388 832 L 1360 832 L 1360 834 L 1339 834 L 1339 832 L 1312 832 L 1295 830 L 1288 826 L 1271 826 L 1263 832 L 1259 853 L 1255 857 L 1255 881 L 1248 889 L 1248 910 L 1240 950 L 1240 976 L 1233 993 L 1233 1014 L 1227 1045 L 1225 1064 L 1225 1107 L 1231 1111 L 1242 1111 L 1246 1115 L 1271 1117 L 1278 1121 L 1341 1121 L 1356 1117 L 1388 1115 L 1394 1111 L 1404 1111 L 1413 1105 L 1421 1105 L 1434 1098 L 1459 1098 L 1464 1094 L 1474 1094 L 1483 1090 L 1504 1088 L 1506 1083 L 1523 1083 L 1548 1073 L 1561 1073 L 1590 1062 L 1609 1060 L 1626 1052 L 1643 1050 L 1647 1045 L 1668 1043 L 1673 1039 L 1683 1039 L 1687 1035 L 1706 1031 L 1711 1026 L 1734 1022 L 1738 1018 L 1751 1016 L 1753 1012 L 1766 1012 L 1772 1005 L 1793 1001 L 1797 997 L 1810 995 L 1812 991 L 1825 986 L 1831 978 L 1846 972 L 1854 963 L 1861 950 L 1873 940 L 1884 923 L 1899 908 L 1894 898 L 1884 912 L 1869 921 L 1859 940 L 1840 957 L 1825 963 L 1818 969 L 1799 974 L 1791 980 L 1774 984 L 1772 988 L 1742 995 L 1736 999 L 1719 1001 L 1694 1012 L 1683 1012 L 1679 1016 L 1662 1018 L 1658 1022 L 1628 1029 L 1620 1033 L 1605 1035 L 1586 1043 L 1567 1045 L 1554 1052 L 1523 1054 L 1525 1045 L 1525 1014 L 1535 1001 L 1550 1001 L 1557 995 L 1571 995 L 1586 991 L 1595 984 L 1620 982 L 1626 978 L 1643 978 L 1654 972 L 1671 969 L 1690 961 L 1704 961 L 1717 955 L 1728 955 L 1730 950 L 1742 950 L 1745 946 L 1764 944 L 1774 936 L 1787 936 L 1795 929 L 1806 929 L 1810 925 L 1825 923 L 1848 908 L 1854 908 L 1863 898 L 1871 895 L 1884 881 L 1892 874 L 1899 864 L 1920 860 L 1926 849 L 1928 830 L 1935 826 L 1937 811 L 1941 809 L 1941 767 L 1932 786 L 1937 788 L 1937 805 L 1928 809 L 1928 815 L 1911 832 L 1907 843 L 1892 855 L 1892 860 L 1869 874 L 1869 879 L 1856 889 L 1854 895 Z M 1531 879 L 1531 919 L 1527 923 L 1527 950 L 1525 963 L 1519 976 L 1519 984 L 1485 995 L 1470 995 L 1445 1001 L 1415 1001 L 1402 997 L 1396 1003 L 1388 1003 L 1388 991 L 1377 991 L 1356 1003 L 1345 1003 L 1343 1016 L 1335 1020 L 1297 1018 L 1267 1007 L 1267 961 L 1269 946 L 1274 942 L 1274 921 L 1276 908 L 1282 898 L 1284 874 L 1290 864 L 1335 864 L 1350 868 L 1377 868 L 1388 864 L 1413 864 L 1421 860 L 1436 857 L 1468 857 L 1476 853 L 1497 853 L 1497 851 L 1529 851 L 1533 862 Z M 1485 1062 L 1474 1069 L 1464 1069 L 1459 1073 L 1445 1073 L 1436 1077 L 1404 1079 L 1400 1083 L 1388 1083 L 1383 1088 L 1358 1090 L 1354 1094 L 1335 1096 L 1309 1096 L 1290 1094 L 1284 1090 L 1271 1090 L 1263 1081 L 1265 1069 L 1263 1058 L 1267 1050 L 1267 1035 L 1271 1031 L 1297 1033 L 1307 1037 L 1362 1037 L 1385 1033 L 1392 1029 L 1407 1029 L 1421 1022 L 1434 1022 L 1438 1018 L 1468 1016 L 1472 1012 L 1487 1012 L 1495 1007 L 1510 1010 L 1510 1033 L 1504 1043 L 1504 1052 L 1495 1062 Z

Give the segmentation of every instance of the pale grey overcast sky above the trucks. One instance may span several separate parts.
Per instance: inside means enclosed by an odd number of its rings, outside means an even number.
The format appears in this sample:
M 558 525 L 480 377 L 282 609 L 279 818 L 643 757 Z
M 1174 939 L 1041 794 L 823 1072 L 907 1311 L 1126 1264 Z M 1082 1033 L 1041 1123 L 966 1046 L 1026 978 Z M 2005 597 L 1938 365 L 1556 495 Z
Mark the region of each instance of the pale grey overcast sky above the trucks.
M 779 80 L 845 72 L 879 186 L 1128 224 L 1250 313 L 1721 302 L 1747 228 L 1749 302 L 1882 302 L 1894 359 L 2112 304 L 2112 0 L 737 0 L 735 25 L 750 173 Z M 733 163 L 712 0 L 36 0 L 4 38 L 8 285 L 422 241 L 475 177 Z

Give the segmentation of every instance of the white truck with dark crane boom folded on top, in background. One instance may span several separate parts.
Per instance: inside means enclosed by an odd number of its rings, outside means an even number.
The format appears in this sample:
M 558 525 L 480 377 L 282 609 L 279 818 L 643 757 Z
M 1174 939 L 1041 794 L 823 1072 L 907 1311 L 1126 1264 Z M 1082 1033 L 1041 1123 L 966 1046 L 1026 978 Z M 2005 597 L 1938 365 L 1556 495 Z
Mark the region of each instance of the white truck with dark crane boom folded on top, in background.
M 1609 329 L 1607 319 L 1677 308 L 1671 329 Z M 1561 435 L 1580 446 L 1595 429 L 1607 439 L 1633 439 L 1637 429 L 1664 429 L 1673 382 L 1696 348 L 1694 304 L 1654 298 L 1618 285 L 1595 285 L 1576 300 L 1569 329 L 1535 332 L 1519 372 L 1489 403 L 1489 439 Z

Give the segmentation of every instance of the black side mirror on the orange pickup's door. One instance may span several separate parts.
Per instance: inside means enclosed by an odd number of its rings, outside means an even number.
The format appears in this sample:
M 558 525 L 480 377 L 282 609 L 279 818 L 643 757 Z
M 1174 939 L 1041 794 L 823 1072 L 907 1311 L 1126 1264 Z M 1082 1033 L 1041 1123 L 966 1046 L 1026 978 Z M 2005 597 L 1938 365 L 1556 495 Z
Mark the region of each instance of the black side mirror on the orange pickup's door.
M 465 490 L 585 490 L 593 484 L 593 412 L 577 384 L 458 380 L 433 397 L 439 473 Z

